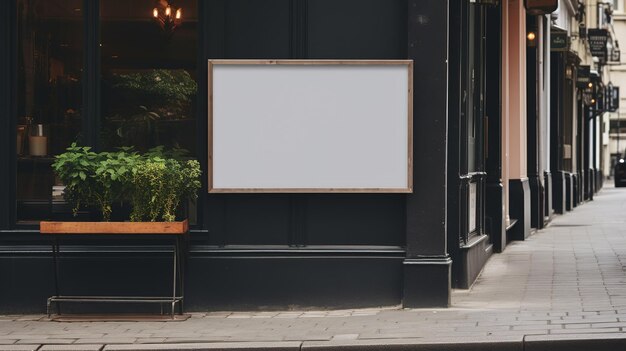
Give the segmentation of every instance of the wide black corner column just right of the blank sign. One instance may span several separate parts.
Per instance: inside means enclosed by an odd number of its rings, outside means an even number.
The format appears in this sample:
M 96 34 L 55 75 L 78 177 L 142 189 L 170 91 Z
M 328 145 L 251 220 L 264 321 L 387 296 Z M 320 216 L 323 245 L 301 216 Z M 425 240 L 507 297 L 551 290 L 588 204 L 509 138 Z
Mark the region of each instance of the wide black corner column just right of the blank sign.
M 407 195 L 405 307 L 448 306 L 446 248 L 448 1 L 408 2 L 408 58 L 415 61 L 413 193 Z

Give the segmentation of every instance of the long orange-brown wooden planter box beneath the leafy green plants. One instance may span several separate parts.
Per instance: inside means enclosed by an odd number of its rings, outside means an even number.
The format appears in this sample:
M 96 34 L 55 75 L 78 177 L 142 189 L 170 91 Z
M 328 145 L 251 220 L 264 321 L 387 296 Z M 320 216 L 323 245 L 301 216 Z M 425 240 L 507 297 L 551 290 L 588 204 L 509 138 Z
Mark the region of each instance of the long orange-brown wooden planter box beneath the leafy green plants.
M 41 234 L 185 234 L 189 223 L 181 222 L 40 222 Z

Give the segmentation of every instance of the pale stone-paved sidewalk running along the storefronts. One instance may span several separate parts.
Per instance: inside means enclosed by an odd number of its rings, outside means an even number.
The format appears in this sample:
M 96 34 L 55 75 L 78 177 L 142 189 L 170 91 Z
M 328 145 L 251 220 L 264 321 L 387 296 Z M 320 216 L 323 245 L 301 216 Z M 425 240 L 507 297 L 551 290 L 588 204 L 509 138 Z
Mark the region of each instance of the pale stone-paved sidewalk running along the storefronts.
M 606 187 L 494 254 L 448 309 L 211 312 L 184 322 L 0 316 L 0 350 L 624 350 L 625 267 L 626 189 Z

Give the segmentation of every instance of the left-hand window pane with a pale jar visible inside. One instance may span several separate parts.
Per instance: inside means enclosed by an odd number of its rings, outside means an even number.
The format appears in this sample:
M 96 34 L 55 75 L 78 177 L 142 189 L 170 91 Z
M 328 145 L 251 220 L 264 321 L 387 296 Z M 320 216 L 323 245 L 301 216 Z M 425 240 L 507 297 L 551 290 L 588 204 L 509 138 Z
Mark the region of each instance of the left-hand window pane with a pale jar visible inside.
M 81 0 L 18 0 L 17 219 L 70 215 L 53 157 L 81 128 Z

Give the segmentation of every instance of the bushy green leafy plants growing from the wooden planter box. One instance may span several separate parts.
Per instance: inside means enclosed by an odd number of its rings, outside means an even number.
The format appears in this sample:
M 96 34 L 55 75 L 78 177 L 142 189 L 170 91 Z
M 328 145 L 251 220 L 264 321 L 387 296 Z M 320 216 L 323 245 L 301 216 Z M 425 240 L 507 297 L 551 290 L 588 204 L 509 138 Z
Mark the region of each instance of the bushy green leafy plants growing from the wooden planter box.
M 132 147 L 95 153 L 74 143 L 52 167 L 66 185 L 74 215 L 82 207 L 97 207 L 108 221 L 114 202 L 130 201 L 131 221 L 171 222 L 180 203 L 195 200 L 201 186 L 200 164 L 185 160 L 185 153 L 163 147 L 143 155 Z

